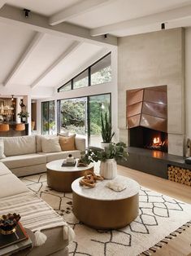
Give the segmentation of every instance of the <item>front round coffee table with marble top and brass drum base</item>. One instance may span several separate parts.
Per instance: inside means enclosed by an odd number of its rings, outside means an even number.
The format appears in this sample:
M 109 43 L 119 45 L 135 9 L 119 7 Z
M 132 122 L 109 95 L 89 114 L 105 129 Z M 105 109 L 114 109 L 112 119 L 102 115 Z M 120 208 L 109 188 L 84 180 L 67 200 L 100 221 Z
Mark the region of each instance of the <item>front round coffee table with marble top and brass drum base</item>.
M 95 188 L 81 187 L 79 180 L 72 183 L 73 213 L 82 223 L 97 229 L 121 228 L 137 218 L 139 213 L 139 184 L 133 179 L 117 176 L 127 188 L 115 192 L 106 187 L 110 180 L 98 182 Z

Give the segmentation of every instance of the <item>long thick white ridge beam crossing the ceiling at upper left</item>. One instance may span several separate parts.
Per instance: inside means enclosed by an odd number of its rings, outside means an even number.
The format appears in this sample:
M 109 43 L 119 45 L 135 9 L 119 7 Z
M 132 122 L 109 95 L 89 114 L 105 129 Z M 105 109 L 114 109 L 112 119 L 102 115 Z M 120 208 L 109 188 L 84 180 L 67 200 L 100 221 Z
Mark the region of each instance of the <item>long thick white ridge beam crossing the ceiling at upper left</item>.
M 74 24 L 68 24 L 67 22 L 50 26 L 48 17 L 39 15 L 33 11 L 30 12 L 28 19 L 26 19 L 22 9 L 8 5 L 4 5 L 0 9 L 0 22 L 23 26 L 24 28 L 41 33 L 49 33 L 59 37 L 70 38 L 74 41 L 89 42 L 99 46 L 117 46 L 116 37 L 109 36 L 105 39 L 101 36 L 93 38 L 90 35 L 89 29 L 85 29 Z

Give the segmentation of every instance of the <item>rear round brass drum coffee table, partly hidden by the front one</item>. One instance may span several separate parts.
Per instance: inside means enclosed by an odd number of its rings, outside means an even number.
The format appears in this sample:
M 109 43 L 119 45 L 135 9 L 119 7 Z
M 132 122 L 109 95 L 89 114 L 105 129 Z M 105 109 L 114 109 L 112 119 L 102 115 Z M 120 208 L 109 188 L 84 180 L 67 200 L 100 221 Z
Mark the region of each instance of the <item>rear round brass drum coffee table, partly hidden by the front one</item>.
M 62 167 L 62 164 L 63 159 L 60 159 L 46 165 L 48 186 L 60 192 L 72 192 L 72 182 L 84 176 L 85 170 L 93 170 L 93 164 L 86 167 Z

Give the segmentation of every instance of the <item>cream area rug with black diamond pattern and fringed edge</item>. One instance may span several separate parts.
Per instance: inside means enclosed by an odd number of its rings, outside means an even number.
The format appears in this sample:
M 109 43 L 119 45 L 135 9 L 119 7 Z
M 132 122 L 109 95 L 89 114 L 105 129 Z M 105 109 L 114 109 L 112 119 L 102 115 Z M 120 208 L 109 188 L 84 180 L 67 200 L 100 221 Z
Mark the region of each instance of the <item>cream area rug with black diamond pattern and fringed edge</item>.
M 94 230 L 80 223 L 72 214 L 72 193 L 56 192 L 47 187 L 46 174 L 31 175 L 21 180 L 73 227 L 76 241 L 69 245 L 70 255 L 141 254 L 151 247 L 154 249 L 154 245 L 157 248 L 167 243 L 164 240 L 166 236 L 176 236 L 173 232 L 191 220 L 191 205 L 148 188 L 140 188 L 140 215 L 131 224 L 112 231 Z

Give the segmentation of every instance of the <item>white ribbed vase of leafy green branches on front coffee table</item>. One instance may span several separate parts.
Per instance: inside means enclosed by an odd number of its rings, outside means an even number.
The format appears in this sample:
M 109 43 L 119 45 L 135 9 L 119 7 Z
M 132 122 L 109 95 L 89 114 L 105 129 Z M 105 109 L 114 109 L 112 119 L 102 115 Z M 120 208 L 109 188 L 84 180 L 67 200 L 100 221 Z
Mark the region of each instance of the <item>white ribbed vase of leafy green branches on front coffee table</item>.
M 114 179 L 117 176 L 117 160 L 127 160 L 128 152 L 125 150 L 126 144 L 110 143 L 103 149 L 89 149 L 82 153 L 80 162 L 89 165 L 93 161 L 101 161 L 100 174 L 105 179 Z

